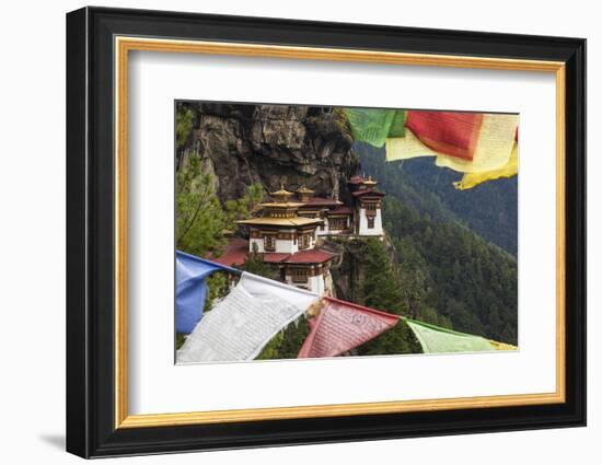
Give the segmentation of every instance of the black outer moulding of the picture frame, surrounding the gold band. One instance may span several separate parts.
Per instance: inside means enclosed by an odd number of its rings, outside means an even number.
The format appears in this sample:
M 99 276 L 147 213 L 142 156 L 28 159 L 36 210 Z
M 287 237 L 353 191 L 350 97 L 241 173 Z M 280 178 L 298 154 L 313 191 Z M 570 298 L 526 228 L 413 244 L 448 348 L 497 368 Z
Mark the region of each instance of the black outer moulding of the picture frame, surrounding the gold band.
M 566 62 L 566 403 L 116 430 L 115 35 Z M 584 39 L 84 8 L 67 15 L 67 130 L 69 452 L 99 457 L 586 425 Z

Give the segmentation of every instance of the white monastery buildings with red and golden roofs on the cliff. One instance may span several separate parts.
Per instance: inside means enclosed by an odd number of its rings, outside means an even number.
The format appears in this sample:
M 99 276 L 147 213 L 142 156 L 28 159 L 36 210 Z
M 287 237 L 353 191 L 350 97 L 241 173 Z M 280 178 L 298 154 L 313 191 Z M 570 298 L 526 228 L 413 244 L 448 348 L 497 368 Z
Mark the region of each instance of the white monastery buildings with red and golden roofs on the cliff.
M 375 186 L 371 177 L 351 177 L 352 206 L 314 197 L 314 191 L 305 186 L 294 193 L 280 186 L 270 194 L 271 201 L 258 206 L 256 217 L 238 221 L 248 231 L 248 241 L 232 239 L 216 261 L 242 266 L 250 254 L 256 254 L 278 269 L 282 282 L 328 295 L 332 291 L 329 266 L 337 255 L 320 248 L 319 237 L 383 237 L 384 194 Z

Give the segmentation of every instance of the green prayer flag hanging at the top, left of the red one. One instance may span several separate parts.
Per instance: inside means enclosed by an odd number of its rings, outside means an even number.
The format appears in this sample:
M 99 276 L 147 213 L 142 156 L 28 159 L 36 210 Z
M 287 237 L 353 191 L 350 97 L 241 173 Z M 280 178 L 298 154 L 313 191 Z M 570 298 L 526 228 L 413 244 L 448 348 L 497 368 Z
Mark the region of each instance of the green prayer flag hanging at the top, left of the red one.
M 383 147 L 389 137 L 405 136 L 403 109 L 344 108 L 356 141 Z

